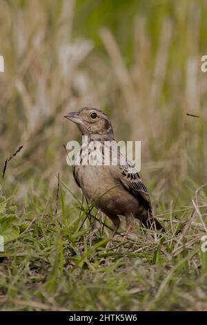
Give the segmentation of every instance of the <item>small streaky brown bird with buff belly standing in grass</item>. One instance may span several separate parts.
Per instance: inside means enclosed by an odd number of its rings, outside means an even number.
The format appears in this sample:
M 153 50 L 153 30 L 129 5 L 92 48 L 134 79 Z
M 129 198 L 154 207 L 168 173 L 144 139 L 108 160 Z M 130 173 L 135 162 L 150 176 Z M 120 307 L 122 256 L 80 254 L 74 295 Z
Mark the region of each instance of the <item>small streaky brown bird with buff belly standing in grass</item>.
M 115 141 L 110 118 L 99 109 L 83 107 L 64 117 L 77 124 L 81 135 L 87 136 L 90 148 L 97 142 L 110 145 Z M 110 149 L 113 150 L 113 147 Z M 79 154 L 83 156 L 83 146 Z M 111 239 L 119 230 L 120 216 L 126 218 L 124 238 L 132 231 L 135 219 L 139 219 L 142 225 L 152 231 L 166 232 L 164 226 L 153 216 L 150 195 L 137 170 L 120 152 L 117 156 L 117 165 L 83 165 L 81 161 L 73 165 L 75 182 L 86 199 L 112 221 L 114 228 Z M 125 164 L 121 163 L 121 159 L 124 159 Z

